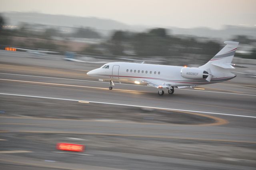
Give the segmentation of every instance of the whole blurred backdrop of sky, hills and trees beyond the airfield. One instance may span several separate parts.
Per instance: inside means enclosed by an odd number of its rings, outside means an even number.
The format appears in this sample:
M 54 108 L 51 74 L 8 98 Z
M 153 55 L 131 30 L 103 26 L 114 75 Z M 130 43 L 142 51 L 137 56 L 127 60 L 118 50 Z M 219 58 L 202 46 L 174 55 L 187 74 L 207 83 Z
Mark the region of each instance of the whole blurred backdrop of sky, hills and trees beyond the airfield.
M 227 40 L 256 59 L 254 0 L 1 2 L 0 44 L 92 56 L 203 64 Z M 33 11 L 33 12 L 32 12 Z M 218 12 L 217 12 L 218 11 Z

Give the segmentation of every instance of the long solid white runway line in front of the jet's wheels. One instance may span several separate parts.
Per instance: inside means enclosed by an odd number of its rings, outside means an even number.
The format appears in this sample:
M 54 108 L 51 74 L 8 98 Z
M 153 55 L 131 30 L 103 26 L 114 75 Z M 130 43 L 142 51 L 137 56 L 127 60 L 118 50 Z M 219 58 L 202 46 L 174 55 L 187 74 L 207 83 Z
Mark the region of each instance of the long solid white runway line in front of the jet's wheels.
M 0 95 L 23 96 L 23 97 L 32 97 L 32 98 L 47 98 L 47 99 L 66 100 L 66 101 L 75 101 L 75 102 L 83 101 L 83 102 L 90 102 L 90 103 L 111 104 L 111 105 L 119 105 L 119 106 L 131 106 L 131 107 L 139 107 L 139 108 L 164 109 L 164 110 L 196 112 L 196 113 L 204 113 L 204 114 L 219 114 L 219 115 L 226 115 L 226 116 L 238 116 L 238 117 L 244 117 L 244 118 L 256 118 L 256 116 L 246 116 L 246 115 L 239 115 L 239 114 L 203 112 L 203 111 L 196 111 L 196 110 L 183 110 L 183 109 L 174 109 L 174 108 L 160 108 L 160 107 L 152 107 L 152 106 L 139 106 L 139 105 L 131 105 L 131 104 L 119 104 L 119 103 L 108 103 L 108 102 L 85 101 L 85 100 L 76 100 L 76 99 L 67 99 L 67 98 L 52 98 L 52 97 L 44 97 L 44 96 L 30 96 L 30 95 L 23 95 L 23 94 L 0 93 Z

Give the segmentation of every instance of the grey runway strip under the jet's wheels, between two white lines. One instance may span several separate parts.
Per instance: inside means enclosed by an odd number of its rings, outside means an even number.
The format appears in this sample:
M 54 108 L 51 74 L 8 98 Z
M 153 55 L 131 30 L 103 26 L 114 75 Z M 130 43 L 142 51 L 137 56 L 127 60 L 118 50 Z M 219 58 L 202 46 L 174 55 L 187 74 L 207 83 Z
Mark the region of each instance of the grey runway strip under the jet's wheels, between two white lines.
M 177 89 L 174 95 L 158 96 L 157 90 L 148 86 L 116 84 L 114 90 L 109 90 L 108 83 L 13 74 L 1 74 L 1 81 L 2 92 L 8 94 L 255 116 L 256 95 L 253 94 Z

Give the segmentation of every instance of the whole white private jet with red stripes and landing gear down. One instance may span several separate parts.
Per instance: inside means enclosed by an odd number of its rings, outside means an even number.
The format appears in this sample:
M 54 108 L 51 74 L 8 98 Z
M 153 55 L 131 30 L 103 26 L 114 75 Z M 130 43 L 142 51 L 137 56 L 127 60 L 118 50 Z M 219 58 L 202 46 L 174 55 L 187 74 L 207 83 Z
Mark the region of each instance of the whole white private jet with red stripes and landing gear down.
M 159 95 L 164 94 L 164 88 L 168 89 L 169 94 L 173 94 L 174 88 L 212 84 L 235 78 L 236 75 L 230 70 L 234 69 L 231 62 L 239 42 L 224 43 L 226 46 L 200 67 L 110 62 L 101 68 L 89 71 L 87 75 L 99 78 L 101 81 L 108 80 L 110 90 L 114 86 L 113 81 L 129 81 L 158 88 Z

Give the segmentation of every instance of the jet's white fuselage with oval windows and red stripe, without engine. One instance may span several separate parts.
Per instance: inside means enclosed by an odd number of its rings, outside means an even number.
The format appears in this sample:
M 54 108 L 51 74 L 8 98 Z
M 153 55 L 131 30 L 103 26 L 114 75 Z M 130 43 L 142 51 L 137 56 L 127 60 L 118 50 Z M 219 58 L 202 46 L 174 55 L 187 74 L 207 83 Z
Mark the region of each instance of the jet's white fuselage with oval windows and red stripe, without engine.
M 166 66 L 156 64 L 140 64 L 129 62 L 112 62 L 106 64 L 108 68 L 97 68 L 88 72 L 89 76 L 97 77 L 104 80 L 143 82 L 150 80 L 153 82 L 164 82 L 171 86 L 194 86 L 202 84 L 211 84 L 230 80 L 235 77 L 229 70 L 224 72 L 212 72 L 210 82 L 203 78 L 190 79 L 181 76 L 182 66 Z M 218 69 L 217 69 L 218 70 Z

